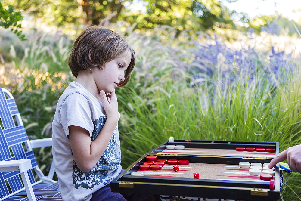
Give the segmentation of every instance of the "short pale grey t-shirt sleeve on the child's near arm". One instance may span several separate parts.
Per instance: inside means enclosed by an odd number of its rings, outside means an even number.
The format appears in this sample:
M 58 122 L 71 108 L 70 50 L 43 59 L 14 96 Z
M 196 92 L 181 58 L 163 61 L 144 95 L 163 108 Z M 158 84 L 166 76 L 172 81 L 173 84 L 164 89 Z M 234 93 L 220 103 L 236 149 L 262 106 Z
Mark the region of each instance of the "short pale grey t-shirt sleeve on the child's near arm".
M 66 137 L 69 135 L 68 127 L 71 125 L 84 128 L 91 137 L 94 129 L 91 107 L 87 98 L 82 94 L 70 94 L 61 106 L 60 116 Z

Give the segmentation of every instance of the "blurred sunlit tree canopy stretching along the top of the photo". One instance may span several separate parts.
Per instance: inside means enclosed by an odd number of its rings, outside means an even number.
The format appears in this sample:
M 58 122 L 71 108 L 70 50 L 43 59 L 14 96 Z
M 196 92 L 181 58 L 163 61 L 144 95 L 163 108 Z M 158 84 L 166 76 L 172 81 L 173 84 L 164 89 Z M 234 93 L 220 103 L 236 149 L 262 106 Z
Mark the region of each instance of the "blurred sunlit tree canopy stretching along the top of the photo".
M 247 14 L 230 11 L 222 2 L 219 0 L 2 0 L 2 4 L 7 9 L 3 9 L 1 5 L 0 26 L 14 26 L 12 31 L 19 37 L 23 37 L 22 32 L 16 29 L 20 26 L 16 22 L 22 19 L 20 14 L 22 12 L 33 15 L 36 19 L 43 19 L 43 22 L 48 25 L 65 28 L 99 25 L 105 21 L 110 23 L 124 21 L 140 32 L 153 29 L 158 25 L 166 25 L 178 30 L 178 33 L 182 30 L 246 31 L 250 27 L 259 33 L 262 26 L 268 26 L 270 22 L 277 19 L 277 16 L 262 16 L 250 20 Z M 13 7 L 18 12 L 15 12 Z M 3 23 L 10 23 L 10 25 Z M 289 29 L 293 33 L 294 27 Z

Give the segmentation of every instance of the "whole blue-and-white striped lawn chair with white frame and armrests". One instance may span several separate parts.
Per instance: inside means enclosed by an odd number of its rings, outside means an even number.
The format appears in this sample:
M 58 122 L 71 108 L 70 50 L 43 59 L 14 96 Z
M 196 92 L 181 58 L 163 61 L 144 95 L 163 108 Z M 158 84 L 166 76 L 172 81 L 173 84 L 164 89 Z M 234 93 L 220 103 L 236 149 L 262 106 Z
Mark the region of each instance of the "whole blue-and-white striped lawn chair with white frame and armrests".
M 4 88 L 0 118 L 0 200 L 62 200 L 58 182 L 52 180 L 53 164 L 45 176 L 33 154 L 33 148 L 51 146 L 51 138 L 29 141 L 14 98 Z

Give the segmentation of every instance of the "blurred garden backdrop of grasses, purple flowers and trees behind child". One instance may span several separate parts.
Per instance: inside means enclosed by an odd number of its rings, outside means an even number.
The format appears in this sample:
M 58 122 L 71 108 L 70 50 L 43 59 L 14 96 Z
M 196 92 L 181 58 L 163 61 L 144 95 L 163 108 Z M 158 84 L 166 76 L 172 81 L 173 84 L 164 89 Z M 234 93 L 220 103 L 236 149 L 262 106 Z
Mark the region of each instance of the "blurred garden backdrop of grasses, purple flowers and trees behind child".
M 250 17 L 239 0 L 0 0 L 0 84 L 14 95 L 30 139 L 51 137 L 57 100 L 75 78 L 78 34 L 106 26 L 137 62 L 117 88 L 122 165 L 168 140 L 301 144 L 300 20 Z M 35 150 L 47 174 L 51 148 Z M 285 174 L 283 200 L 301 200 Z

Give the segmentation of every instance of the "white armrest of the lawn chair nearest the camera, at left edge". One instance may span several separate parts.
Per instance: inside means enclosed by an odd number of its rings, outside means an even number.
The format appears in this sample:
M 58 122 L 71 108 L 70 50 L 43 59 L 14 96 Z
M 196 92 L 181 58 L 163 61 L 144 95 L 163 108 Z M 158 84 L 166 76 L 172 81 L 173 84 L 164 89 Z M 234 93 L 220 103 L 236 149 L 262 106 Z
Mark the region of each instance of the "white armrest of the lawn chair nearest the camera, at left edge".
M 30 159 L 0 161 L 0 172 L 26 172 L 32 168 Z

